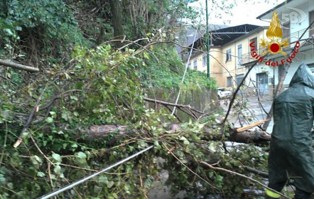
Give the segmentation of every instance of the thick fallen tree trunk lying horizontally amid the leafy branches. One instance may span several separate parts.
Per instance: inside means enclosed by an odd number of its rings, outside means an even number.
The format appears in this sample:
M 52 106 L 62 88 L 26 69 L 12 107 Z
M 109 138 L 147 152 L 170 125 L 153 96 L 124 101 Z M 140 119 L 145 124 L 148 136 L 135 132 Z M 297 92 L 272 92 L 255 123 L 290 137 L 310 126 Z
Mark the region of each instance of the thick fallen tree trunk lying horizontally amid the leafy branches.
M 179 124 L 172 124 L 170 127 L 171 132 L 175 133 L 176 131 L 182 131 L 183 129 Z M 210 127 L 203 128 L 204 135 L 203 140 L 221 140 L 223 138 L 223 134 L 220 133 L 213 133 L 214 129 Z M 83 135 L 85 139 L 92 140 L 92 139 L 101 139 L 108 137 L 111 133 L 116 133 L 118 136 L 127 136 L 132 133 L 136 133 L 137 130 L 131 128 L 126 125 L 93 125 L 89 129 L 81 130 L 80 135 Z M 228 141 L 231 142 L 238 142 L 238 143 L 256 143 L 261 144 L 267 141 L 270 141 L 271 136 L 261 130 L 255 131 L 243 131 L 243 132 L 235 132 L 234 129 L 230 130 L 230 136 L 227 137 Z

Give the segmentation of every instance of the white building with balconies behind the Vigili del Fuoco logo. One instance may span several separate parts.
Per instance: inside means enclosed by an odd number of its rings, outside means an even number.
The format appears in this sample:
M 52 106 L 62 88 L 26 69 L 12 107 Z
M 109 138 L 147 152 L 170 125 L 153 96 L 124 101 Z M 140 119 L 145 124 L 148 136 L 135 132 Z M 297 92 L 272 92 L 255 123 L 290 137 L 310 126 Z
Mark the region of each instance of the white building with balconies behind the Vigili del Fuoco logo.
M 296 10 L 289 8 L 297 8 Z M 306 16 L 302 16 L 303 10 Z M 301 40 L 300 50 L 293 59 L 290 65 L 288 74 L 284 80 L 284 87 L 288 87 L 289 83 L 302 62 L 305 62 L 310 68 L 313 67 L 314 71 L 314 49 L 313 45 L 305 39 L 314 38 L 314 25 L 305 31 L 310 24 L 314 21 L 314 0 L 286 0 L 285 2 L 277 5 L 276 7 L 268 10 L 267 12 L 258 16 L 258 19 L 267 20 L 270 22 L 274 10 L 278 13 L 278 18 L 284 21 L 283 39 L 288 38 L 290 46 L 285 48 L 284 51 L 288 54 L 287 57 L 282 54 L 268 54 L 264 60 L 278 61 L 278 66 L 266 66 L 265 63 L 257 64 L 245 80 L 246 85 L 253 87 L 253 84 L 259 89 L 260 93 L 271 93 L 273 88 L 276 88 L 279 77 L 284 72 L 285 68 L 281 64 L 282 59 L 289 59 L 290 52 L 296 45 L 296 41 L 305 33 Z M 298 15 L 298 16 L 297 16 Z M 306 17 L 306 18 L 305 18 Z M 288 19 L 290 21 L 287 21 Z M 305 20 L 304 20 L 305 19 Z M 301 22 L 302 21 L 302 22 Z M 311 42 L 311 40 L 310 40 Z M 258 47 L 256 52 L 261 55 L 265 48 Z M 242 65 L 246 66 L 246 71 L 253 65 L 256 59 L 252 58 L 250 53 L 243 55 Z

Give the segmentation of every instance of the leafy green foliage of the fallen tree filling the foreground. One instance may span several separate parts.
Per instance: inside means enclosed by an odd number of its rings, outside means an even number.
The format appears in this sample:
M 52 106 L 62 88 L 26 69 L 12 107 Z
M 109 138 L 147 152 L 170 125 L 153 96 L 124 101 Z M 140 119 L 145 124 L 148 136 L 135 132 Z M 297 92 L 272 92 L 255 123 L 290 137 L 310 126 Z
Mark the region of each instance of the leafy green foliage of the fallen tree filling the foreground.
M 220 133 L 216 121 L 218 115 L 209 117 L 205 123 L 182 123 L 182 130 L 171 132 L 169 126 L 173 116 L 165 111 L 157 113 L 145 108 L 138 70 L 147 60 L 133 56 L 135 52 L 132 49 L 128 53 L 115 51 L 109 45 L 95 49 L 76 47 L 72 54 L 76 62 L 63 68 L 56 65 L 54 77 L 37 76 L 38 82 L 22 89 L 26 93 L 14 92 L 17 89 L 14 84 L 1 85 L 0 89 L 5 92 L 0 96 L 3 99 L 0 103 L 0 129 L 3 132 L 0 140 L 7 137 L 1 147 L 0 186 L 6 188 L 0 190 L 3 199 L 37 198 L 67 184 L 67 180 L 72 182 L 82 178 L 90 170 L 99 170 L 153 143 L 155 148 L 146 155 L 110 171 L 115 174 L 100 175 L 76 187 L 77 192 L 60 196 L 78 198 L 79 193 L 86 199 L 144 199 L 161 169 L 169 172 L 167 183 L 173 193 L 179 190 L 187 190 L 189 196 L 242 193 L 241 188 L 249 185 L 247 181 L 209 171 L 199 165 L 199 161 L 220 161 L 218 166 L 244 173 L 240 163 L 262 168 L 265 157 L 260 156 L 254 146 L 239 146 L 225 153 L 221 142 L 203 140 L 210 136 L 202 130 L 204 125 L 215 129 L 211 135 Z M 13 73 L 13 70 L 9 72 Z M 59 78 L 47 88 L 40 107 L 56 96 L 61 98 L 50 108 L 40 110 L 37 124 L 24 135 L 23 144 L 14 149 L 12 144 L 24 123 L 23 119 L 14 116 L 15 113 L 28 112 L 35 103 L 29 96 L 36 98 L 42 92 L 34 87 L 43 88 L 56 77 Z M 27 101 L 27 104 L 21 101 Z M 169 122 L 162 122 L 160 117 Z M 101 139 L 91 139 L 84 133 L 84 129 L 93 124 L 116 123 L 130 125 L 137 131 L 125 136 L 115 132 Z M 27 138 L 30 135 L 48 159 Z M 181 163 L 168 152 L 170 149 Z M 239 150 L 245 153 L 238 153 Z M 160 161 L 160 157 L 164 161 Z M 254 158 L 256 160 L 252 161 Z M 212 186 L 196 178 L 182 163 Z M 15 194 L 9 190 L 14 190 Z

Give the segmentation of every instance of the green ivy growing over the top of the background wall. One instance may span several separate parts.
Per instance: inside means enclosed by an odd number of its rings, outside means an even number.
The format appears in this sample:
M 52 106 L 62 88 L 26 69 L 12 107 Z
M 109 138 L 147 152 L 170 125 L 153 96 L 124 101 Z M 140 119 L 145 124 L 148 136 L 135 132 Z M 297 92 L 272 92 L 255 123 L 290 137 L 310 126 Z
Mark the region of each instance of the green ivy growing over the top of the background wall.
M 214 79 L 209 80 L 205 73 L 189 68 L 181 85 L 185 66 L 173 46 L 156 45 L 151 51 L 152 53 L 144 54 L 146 64 L 141 68 L 141 82 L 145 87 L 178 89 L 182 86 L 186 90 L 196 87 L 217 88 Z

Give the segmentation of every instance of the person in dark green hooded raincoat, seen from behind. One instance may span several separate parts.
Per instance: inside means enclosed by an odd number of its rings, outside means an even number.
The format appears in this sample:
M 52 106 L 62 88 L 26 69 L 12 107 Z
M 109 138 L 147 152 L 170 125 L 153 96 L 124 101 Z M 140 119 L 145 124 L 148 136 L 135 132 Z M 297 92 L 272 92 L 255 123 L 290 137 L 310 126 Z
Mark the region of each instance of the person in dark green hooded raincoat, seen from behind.
M 295 199 L 314 193 L 314 75 L 302 63 L 289 88 L 274 100 L 274 127 L 268 158 L 268 187 L 281 192 L 288 180 L 296 187 Z M 266 190 L 267 199 L 280 195 Z

